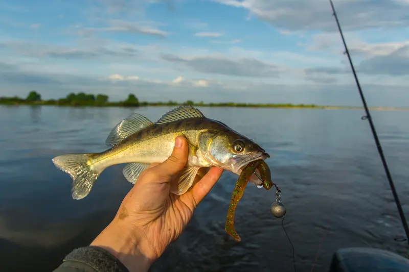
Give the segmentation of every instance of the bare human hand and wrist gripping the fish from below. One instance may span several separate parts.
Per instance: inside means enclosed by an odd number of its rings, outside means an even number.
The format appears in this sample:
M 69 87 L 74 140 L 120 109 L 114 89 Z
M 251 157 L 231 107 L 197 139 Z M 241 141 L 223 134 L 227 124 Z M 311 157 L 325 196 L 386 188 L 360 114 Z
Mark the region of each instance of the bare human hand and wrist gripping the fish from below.
M 172 194 L 171 183 L 187 159 L 187 141 L 179 136 L 172 155 L 141 173 L 115 218 L 91 245 L 108 250 L 129 271 L 148 271 L 181 234 L 223 172 L 222 168 L 212 167 L 192 189 L 182 195 Z

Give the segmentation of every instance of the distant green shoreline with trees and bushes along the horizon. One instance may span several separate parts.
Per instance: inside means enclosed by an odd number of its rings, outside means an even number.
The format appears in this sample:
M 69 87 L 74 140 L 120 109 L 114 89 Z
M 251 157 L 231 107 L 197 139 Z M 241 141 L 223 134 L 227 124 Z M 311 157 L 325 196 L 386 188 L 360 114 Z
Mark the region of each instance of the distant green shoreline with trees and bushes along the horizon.
M 84 92 L 70 93 L 64 98 L 42 100 L 41 94 L 36 91 L 30 91 L 26 98 L 18 96 L 0 97 L 0 105 L 9 106 L 59 106 L 59 107 L 160 107 L 160 106 L 186 106 L 195 107 L 230 107 L 230 108 L 275 108 L 275 109 L 323 109 L 323 110 L 358 110 L 363 107 L 352 106 L 318 106 L 313 104 L 255 104 L 255 103 L 199 103 L 188 100 L 180 103 L 175 101 L 168 102 L 140 102 L 138 98 L 130 93 L 124 101 L 109 102 L 109 97 L 105 94 L 87 94 Z M 409 111 L 409 108 L 397 107 L 370 107 L 371 110 L 389 110 L 389 111 Z

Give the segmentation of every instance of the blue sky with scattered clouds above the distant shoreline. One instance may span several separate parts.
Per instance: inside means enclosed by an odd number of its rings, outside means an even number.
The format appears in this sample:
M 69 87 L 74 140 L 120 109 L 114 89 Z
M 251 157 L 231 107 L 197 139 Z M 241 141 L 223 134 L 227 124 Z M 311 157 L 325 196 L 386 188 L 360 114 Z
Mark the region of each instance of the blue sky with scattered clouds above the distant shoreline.
M 334 0 L 369 106 L 409 107 L 409 0 Z M 361 106 L 327 0 L 2 0 L 0 95 Z

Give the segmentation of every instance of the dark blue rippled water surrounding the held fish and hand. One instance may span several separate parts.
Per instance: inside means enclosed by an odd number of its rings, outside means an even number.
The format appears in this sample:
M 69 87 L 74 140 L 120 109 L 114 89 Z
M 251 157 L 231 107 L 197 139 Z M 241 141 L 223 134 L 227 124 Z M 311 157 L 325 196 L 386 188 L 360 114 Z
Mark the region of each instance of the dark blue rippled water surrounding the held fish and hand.
M 169 107 L 140 108 L 151 120 Z M 71 179 L 51 159 L 99 152 L 134 109 L 0 107 L 2 271 L 47 271 L 89 244 L 131 188 L 123 165 L 106 169 L 92 192 L 71 198 Z M 200 108 L 273 155 L 267 160 L 287 207 L 284 220 L 298 271 L 327 271 L 346 246 L 407 256 L 396 205 L 363 110 Z M 409 112 L 373 111 L 400 200 L 409 217 Z M 237 176 L 225 172 L 179 239 L 151 271 L 293 271 L 291 246 L 269 206 L 274 192 L 250 184 L 236 211 L 236 242 L 224 232 Z M 314 265 L 314 266 L 313 266 Z

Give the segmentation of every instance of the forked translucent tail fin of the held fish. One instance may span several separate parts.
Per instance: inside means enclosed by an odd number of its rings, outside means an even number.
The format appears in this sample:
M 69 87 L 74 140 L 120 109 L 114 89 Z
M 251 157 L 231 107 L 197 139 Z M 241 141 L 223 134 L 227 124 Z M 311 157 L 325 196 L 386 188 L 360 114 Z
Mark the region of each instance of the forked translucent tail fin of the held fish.
M 80 200 L 88 195 L 103 169 L 96 169 L 90 158 L 95 153 L 65 154 L 53 159 L 54 165 L 73 179 L 71 194 Z

